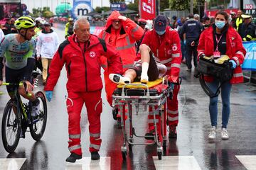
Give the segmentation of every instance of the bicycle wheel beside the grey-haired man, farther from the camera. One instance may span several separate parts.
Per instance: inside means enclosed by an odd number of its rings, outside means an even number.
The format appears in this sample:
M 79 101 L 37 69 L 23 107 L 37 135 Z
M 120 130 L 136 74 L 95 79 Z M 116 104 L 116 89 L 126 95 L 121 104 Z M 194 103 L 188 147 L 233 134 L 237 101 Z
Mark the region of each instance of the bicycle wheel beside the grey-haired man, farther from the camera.
M 46 105 L 46 96 L 44 96 L 42 91 L 38 91 L 35 94 L 36 98 L 40 101 L 40 111 L 36 118 L 33 118 L 31 125 L 29 126 L 31 136 L 33 140 L 41 140 L 43 133 L 46 130 L 47 122 L 47 105 Z

